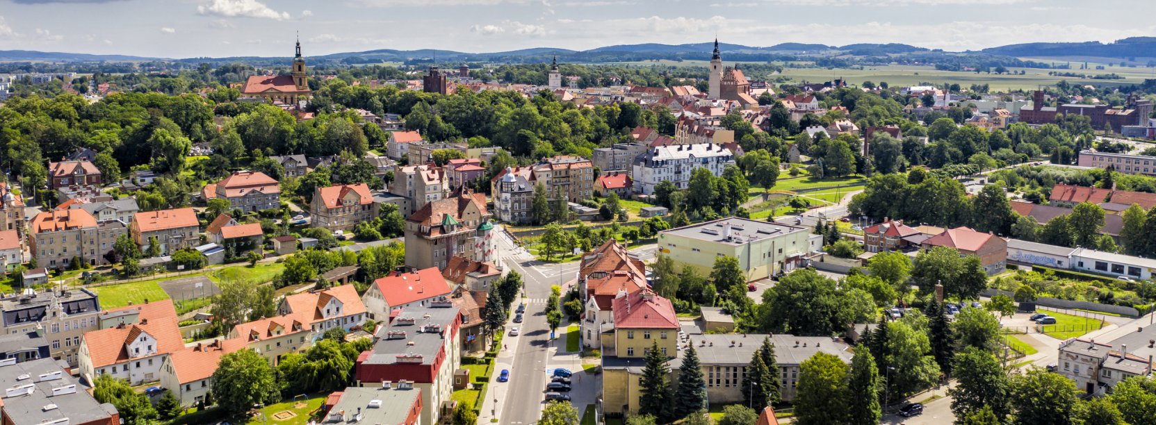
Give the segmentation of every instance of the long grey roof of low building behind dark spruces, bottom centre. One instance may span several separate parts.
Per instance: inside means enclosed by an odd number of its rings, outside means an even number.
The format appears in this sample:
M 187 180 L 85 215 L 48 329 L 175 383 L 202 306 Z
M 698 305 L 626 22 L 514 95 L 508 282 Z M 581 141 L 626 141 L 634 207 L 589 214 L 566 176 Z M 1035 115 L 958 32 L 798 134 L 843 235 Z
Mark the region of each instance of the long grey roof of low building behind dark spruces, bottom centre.
M 763 334 L 705 334 L 691 336 L 690 343 L 695 345 L 698 361 L 703 365 L 746 365 L 750 363 L 751 356 L 762 346 L 763 338 L 768 336 Z M 779 366 L 799 365 L 820 351 L 838 356 L 849 364 L 853 355 L 850 345 L 825 336 L 780 334 L 770 335 L 770 338 L 771 344 L 775 345 L 775 359 Z M 704 342 L 705 344 L 703 344 Z M 681 365 L 684 355 L 686 350 L 680 346 L 679 357 L 670 364 Z

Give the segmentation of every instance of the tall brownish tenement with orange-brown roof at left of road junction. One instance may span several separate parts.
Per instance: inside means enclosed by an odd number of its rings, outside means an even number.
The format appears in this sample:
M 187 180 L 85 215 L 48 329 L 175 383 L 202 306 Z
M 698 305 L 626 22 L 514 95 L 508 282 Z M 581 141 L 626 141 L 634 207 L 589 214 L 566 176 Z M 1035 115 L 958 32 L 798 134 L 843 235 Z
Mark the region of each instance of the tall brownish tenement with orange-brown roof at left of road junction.
M 475 258 L 477 228 L 490 216 L 486 195 L 468 188 L 427 203 L 406 218 L 406 264 L 445 268 L 451 256 Z

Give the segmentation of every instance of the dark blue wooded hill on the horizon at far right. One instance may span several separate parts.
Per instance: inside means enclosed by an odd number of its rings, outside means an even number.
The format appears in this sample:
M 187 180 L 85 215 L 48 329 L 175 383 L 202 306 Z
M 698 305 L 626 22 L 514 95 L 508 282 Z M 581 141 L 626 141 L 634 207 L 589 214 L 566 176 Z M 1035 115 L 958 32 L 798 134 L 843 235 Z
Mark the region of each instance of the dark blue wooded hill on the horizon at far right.
M 1103 58 L 1154 58 L 1156 37 L 1132 37 L 1114 43 L 1024 43 L 984 49 L 981 52 L 1008 57 L 1103 57 Z

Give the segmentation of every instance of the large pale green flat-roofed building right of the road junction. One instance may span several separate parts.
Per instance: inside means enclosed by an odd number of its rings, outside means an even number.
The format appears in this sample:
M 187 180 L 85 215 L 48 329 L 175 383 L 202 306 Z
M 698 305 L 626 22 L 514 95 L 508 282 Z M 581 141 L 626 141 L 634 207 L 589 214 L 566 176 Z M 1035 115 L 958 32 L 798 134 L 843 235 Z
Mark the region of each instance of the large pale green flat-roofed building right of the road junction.
M 747 281 L 778 276 L 803 266 L 803 258 L 822 248 L 822 237 L 809 229 L 740 217 L 719 218 L 664 230 L 658 248 L 676 264 L 711 274 L 714 258 L 734 256 Z

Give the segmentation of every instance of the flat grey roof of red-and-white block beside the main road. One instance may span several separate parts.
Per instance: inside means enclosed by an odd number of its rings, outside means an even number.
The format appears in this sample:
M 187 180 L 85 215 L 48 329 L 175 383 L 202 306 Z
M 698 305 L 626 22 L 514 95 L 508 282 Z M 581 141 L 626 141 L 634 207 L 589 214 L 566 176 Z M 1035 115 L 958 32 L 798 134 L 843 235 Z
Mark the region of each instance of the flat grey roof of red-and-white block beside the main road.
M 445 344 L 445 330 L 455 321 L 461 310 L 450 307 L 407 307 L 393 319 L 390 326 L 383 326 L 377 331 L 377 344 L 368 364 L 397 364 L 398 356 L 420 355 L 421 364 L 432 365 L 442 345 Z M 400 323 L 403 319 L 414 319 L 414 325 Z M 436 326 L 431 329 L 428 326 Z M 403 337 L 390 338 L 390 331 L 405 331 Z M 415 364 L 417 361 L 414 361 Z

